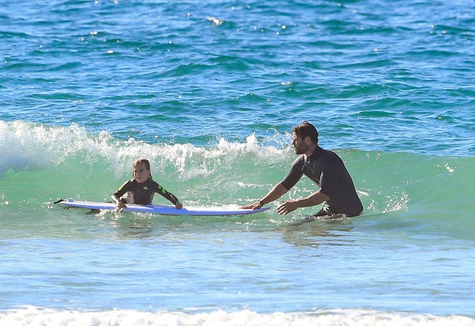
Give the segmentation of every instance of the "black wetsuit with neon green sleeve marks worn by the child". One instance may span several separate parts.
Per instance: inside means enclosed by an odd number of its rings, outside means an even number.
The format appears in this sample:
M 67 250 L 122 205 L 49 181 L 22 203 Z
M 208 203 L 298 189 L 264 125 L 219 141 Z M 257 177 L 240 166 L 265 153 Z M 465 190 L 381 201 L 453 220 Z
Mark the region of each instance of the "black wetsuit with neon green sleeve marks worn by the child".
M 113 194 L 122 200 L 125 204 L 147 205 L 152 203 L 153 195 L 158 193 L 170 200 L 173 204 L 178 202 L 178 199 L 172 193 L 169 193 L 157 182 L 149 178 L 145 182 L 137 182 L 135 179 L 126 181 Z

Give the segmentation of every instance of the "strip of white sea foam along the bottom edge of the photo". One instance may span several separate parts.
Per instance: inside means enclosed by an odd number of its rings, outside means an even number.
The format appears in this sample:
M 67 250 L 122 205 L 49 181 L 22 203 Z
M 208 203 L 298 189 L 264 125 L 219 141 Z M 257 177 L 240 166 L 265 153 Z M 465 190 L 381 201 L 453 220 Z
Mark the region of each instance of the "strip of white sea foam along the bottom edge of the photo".
M 433 316 L 387 313 L 371 310 L 321 310 L 269 314 L 250 310 L 209 313 L 142 312 L 136 310 L 86 311 L 50 310 L 29 306 L 0 313 L 0 325 L 8 326 L 471 326 L 475 319 L 466 316 Z

